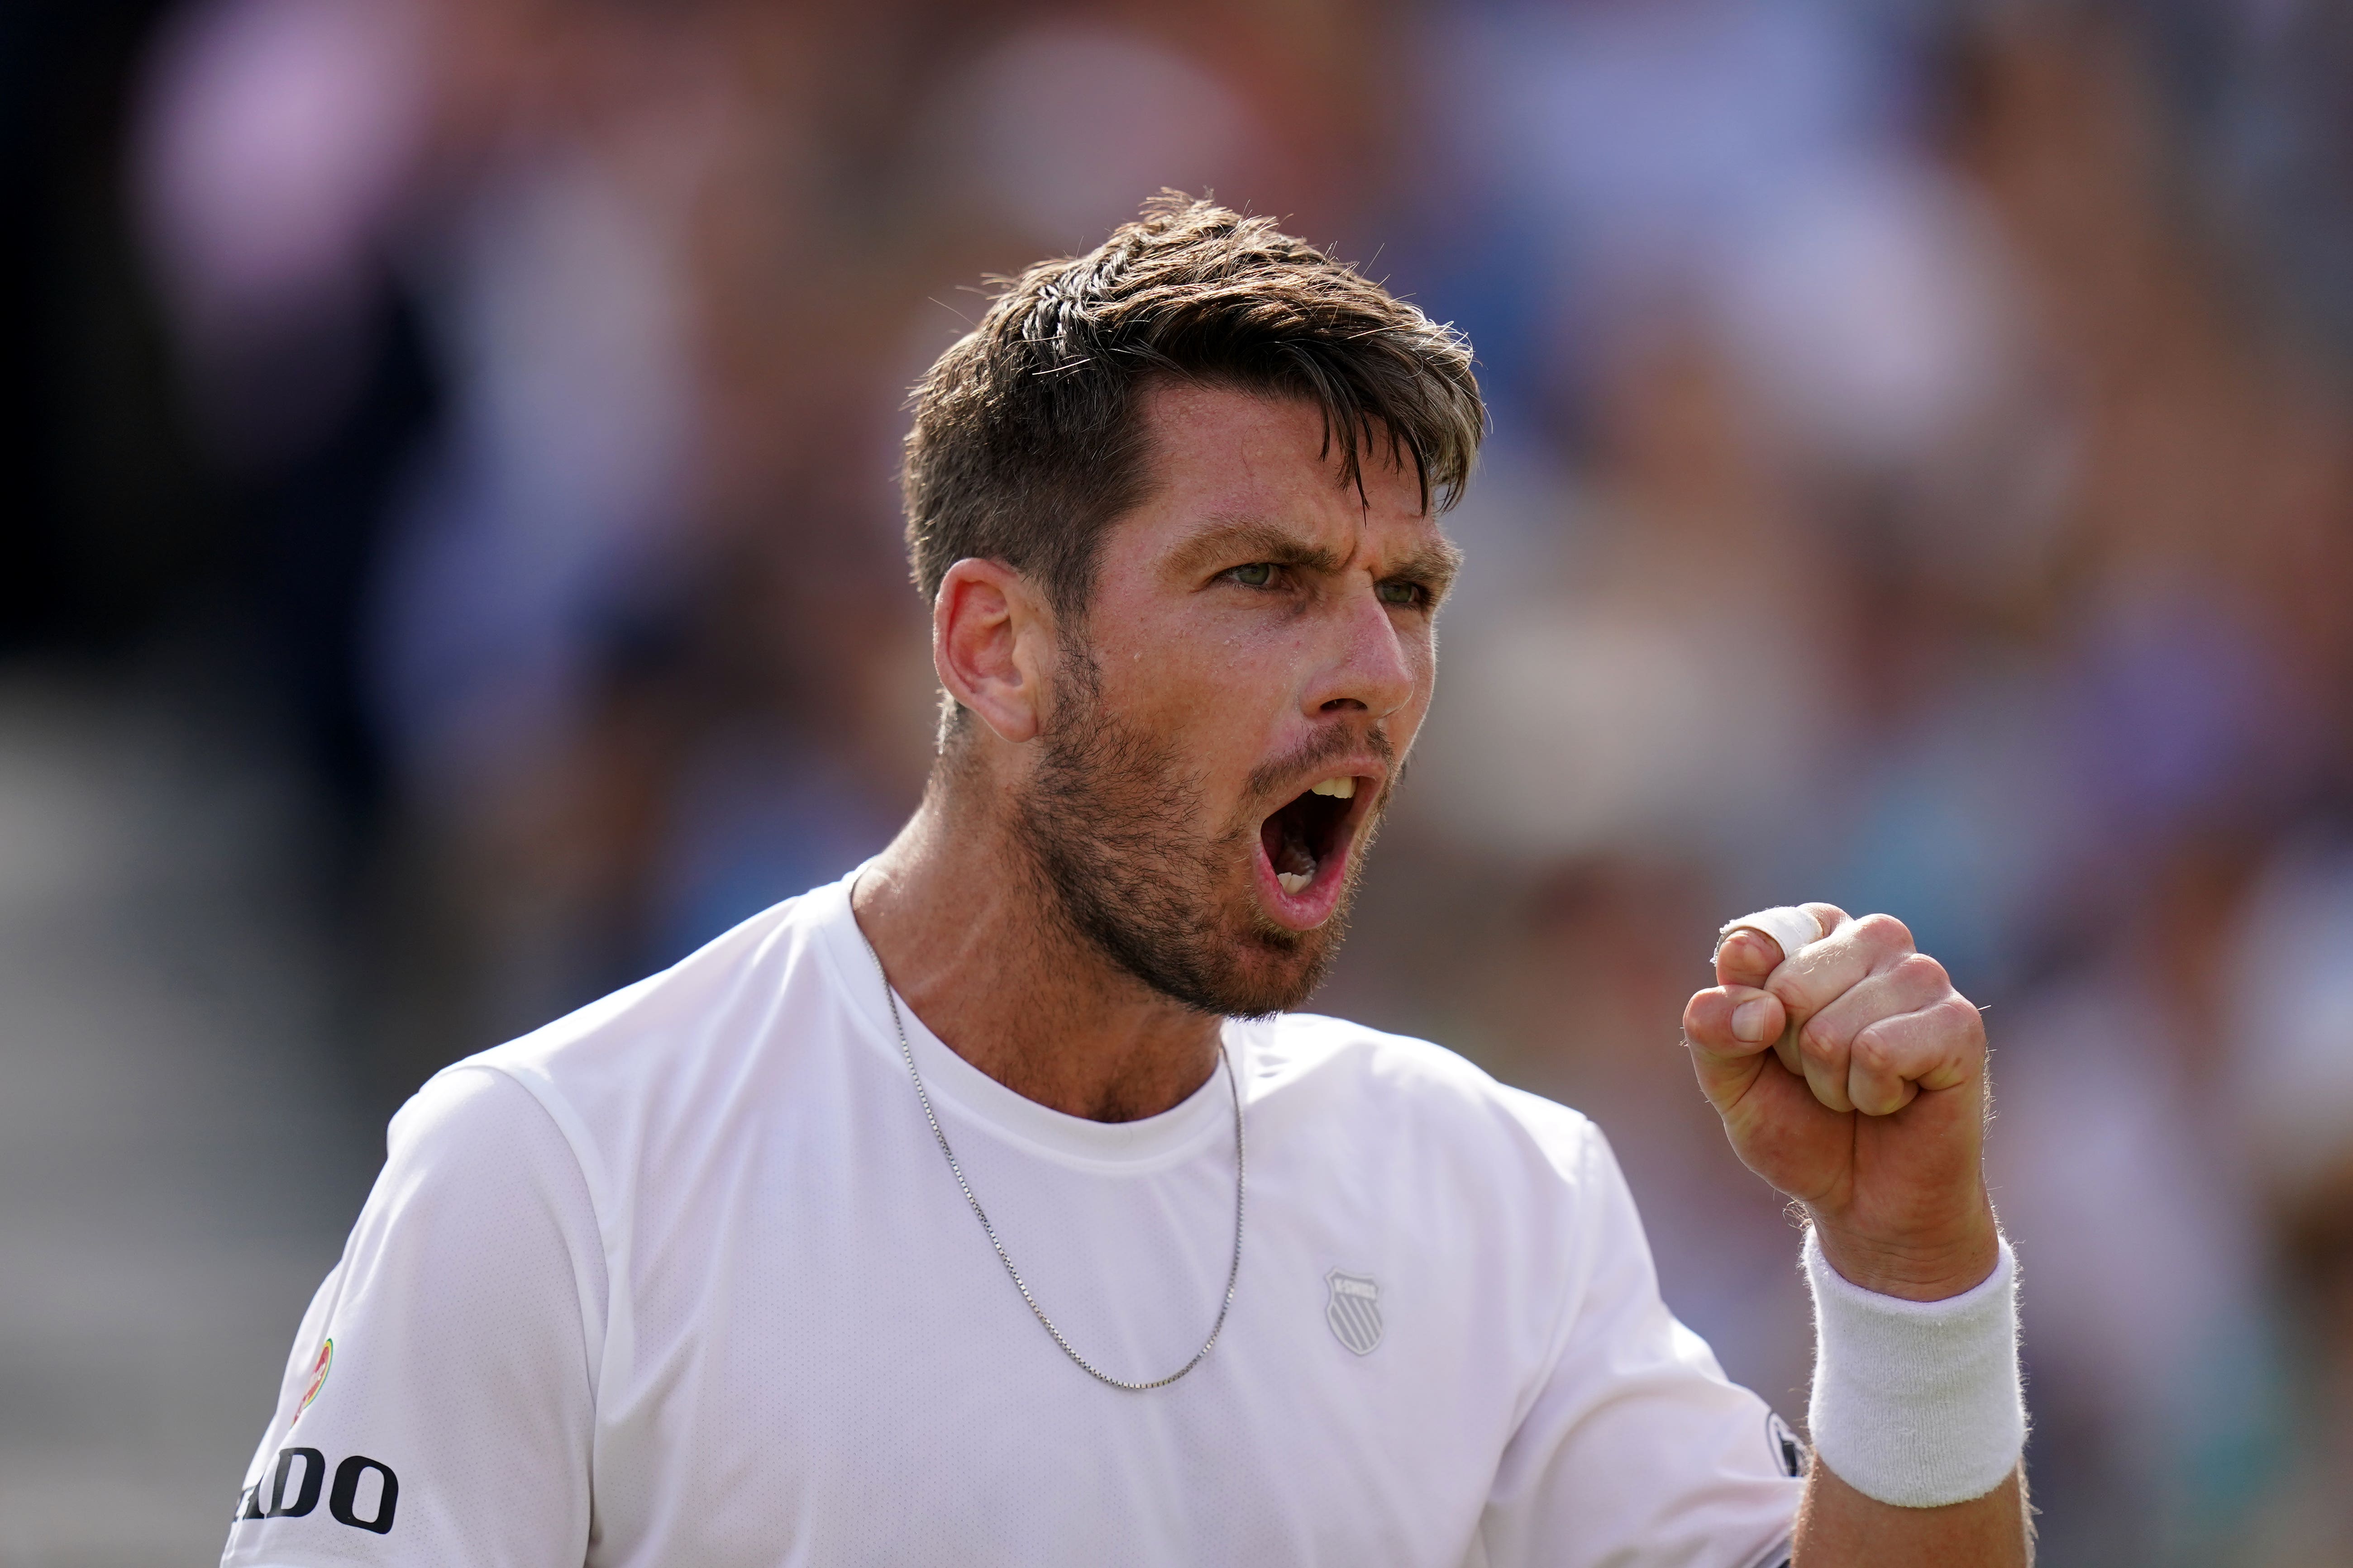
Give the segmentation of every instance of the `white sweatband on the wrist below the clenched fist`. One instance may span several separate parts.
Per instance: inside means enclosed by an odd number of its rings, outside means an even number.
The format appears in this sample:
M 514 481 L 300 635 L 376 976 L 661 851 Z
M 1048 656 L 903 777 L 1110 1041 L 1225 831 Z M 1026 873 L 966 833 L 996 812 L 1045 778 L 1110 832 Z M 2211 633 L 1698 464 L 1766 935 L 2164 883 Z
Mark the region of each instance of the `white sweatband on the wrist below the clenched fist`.
M 2019 1265 L 2009 1244 L 1984 1284 L 1941 1302 L 1864 1291 L 1805 1232 L 1814 1286 L 1814 1453 L 1894 1507 L 1984 1497 L 2026 1450 Z

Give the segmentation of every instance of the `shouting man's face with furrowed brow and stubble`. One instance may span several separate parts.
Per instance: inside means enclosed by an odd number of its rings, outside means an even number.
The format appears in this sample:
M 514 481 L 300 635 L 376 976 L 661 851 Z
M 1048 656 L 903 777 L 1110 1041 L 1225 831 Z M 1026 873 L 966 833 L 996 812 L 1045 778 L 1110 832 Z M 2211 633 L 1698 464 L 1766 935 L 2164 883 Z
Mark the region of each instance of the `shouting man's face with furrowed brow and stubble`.
M 1205 1013 L 1297 1006 L 1431 703 L 1454 548 L 1386 442 L 1362 496 L 1306 402 L 1162 386 L 1148 498 L 1066 630 L 1016 816 L 1073 924 Z

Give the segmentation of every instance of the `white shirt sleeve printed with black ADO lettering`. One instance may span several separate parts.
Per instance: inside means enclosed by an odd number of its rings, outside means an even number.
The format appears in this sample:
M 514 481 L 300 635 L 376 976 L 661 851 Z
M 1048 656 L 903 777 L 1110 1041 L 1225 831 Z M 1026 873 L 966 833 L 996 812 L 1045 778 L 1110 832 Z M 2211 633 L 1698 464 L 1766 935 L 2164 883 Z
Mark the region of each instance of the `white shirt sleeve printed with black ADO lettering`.
M 224 1568 L 579 1568 L 605 1251 L 527 1088 L 452 1067 L 304 1314 Z

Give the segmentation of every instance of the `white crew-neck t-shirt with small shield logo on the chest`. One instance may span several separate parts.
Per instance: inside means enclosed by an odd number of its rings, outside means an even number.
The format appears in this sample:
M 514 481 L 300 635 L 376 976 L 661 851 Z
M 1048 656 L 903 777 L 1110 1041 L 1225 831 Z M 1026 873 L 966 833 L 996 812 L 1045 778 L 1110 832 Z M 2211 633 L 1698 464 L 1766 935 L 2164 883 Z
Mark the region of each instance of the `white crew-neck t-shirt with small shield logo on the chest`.
M 901 1016 L 1045 1312 L 1111 1375 L 1181 1366 L 1233 1248 L 1228 1070 L 1096 1124 Z M 1240 1286 L 1146 1394 L 1005 1276 L 847 884 L 456 1063 L 393 1119 L 221 1561 L 1784 1561 L 1784 1429 L 1659 1302 L 1593 1124 L 1332 1018 L 1226 1046 Z

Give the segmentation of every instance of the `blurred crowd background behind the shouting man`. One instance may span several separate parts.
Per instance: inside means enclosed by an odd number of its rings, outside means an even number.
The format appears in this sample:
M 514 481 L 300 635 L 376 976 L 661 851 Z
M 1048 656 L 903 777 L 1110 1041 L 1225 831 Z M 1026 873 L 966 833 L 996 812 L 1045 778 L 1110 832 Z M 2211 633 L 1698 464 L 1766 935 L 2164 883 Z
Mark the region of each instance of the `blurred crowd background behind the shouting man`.
M 0 1566 L 209 1561 L 438 1065 L 878 849 L 904 388 L 1160 186 L 1494 402 L 1329 1011 L 1805 1408 L 1713 929 L 1988 1004 L 2045 1559 L 2353 1561 L 2353 12 L 16 0 Z

